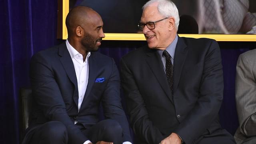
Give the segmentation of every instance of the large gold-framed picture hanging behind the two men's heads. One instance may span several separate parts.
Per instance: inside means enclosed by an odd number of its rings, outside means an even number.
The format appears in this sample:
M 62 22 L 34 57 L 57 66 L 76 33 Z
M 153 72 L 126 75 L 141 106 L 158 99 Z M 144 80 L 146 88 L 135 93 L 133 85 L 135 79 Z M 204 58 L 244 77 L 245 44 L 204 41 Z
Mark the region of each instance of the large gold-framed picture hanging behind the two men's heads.
M 137 29 L 148 0 L 58 0 L 58 38 L 68 38 L 65 19 L 82 5 L 102 16 L 103 40 L 146 40 Z M 256 41 L 255 0 L 172 0 L 178 7 L 178 35 L 217 41 Z

